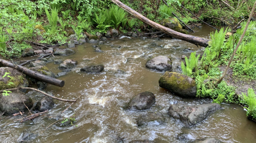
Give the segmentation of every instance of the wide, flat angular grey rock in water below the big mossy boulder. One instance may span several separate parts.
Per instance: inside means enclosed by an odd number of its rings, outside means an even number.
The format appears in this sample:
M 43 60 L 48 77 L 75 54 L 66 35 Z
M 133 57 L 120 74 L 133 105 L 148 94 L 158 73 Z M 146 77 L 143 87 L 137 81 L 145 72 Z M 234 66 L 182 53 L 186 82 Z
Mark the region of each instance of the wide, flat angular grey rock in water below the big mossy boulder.
M 174 104 L 168 109 L 168 114 L 181 120 L 186 126 L 196 125 L 206 119 L 210 113 L 221 109 L 221 105 L 217 103 L 188 105 Z

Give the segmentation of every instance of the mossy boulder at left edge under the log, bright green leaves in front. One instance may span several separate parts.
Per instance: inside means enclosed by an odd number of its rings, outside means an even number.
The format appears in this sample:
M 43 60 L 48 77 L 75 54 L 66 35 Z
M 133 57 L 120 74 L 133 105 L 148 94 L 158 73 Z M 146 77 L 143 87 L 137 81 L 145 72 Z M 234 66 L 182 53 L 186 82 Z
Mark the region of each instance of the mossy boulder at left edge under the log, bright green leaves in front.
M 10 74 L 3 77 L 3 75 L 5 75 L 5 72 L 8 72 Z M 28 80 L 25 78 L 25 75 L 17 71 L 16 69 L 9 67 L 1 67 L 0 89 L 11 89 L 15 87 L 28 87 Z

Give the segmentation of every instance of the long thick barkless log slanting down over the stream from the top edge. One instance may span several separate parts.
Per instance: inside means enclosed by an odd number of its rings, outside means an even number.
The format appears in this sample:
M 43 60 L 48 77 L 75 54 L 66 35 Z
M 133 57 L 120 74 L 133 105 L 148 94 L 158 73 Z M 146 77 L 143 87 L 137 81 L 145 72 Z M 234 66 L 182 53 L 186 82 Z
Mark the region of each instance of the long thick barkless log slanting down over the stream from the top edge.
M 205 38 L 201 38 L 201 37 L 197 37 L 197 36 L 191 36 L 191 35 L 176 32 L 176 31 L 174 31 L 170 28 L 167 28 L 167 27 L 162 26 L 162 25 L 160 25 L 160 24 L 158 24 L 154 21 L 149 20 L 148 18 L 146 18 L 143 15 L 139 14 L 138 12 L 134 11 L 129 6 L 126 6 L 125 4 L 120 2 L 119 0 L 111 0 L 111 1 L 113 3 L 115 3 L 117 6 L 119 6 L 120 8 L 124 9 L 125 11 L 127 11 L 128 13 L 133 15 L 134 17 L 141 20 L 142 22 L 144 22 L 144 23 L 148 24 L 149 26 L 154 27 L 155 29 L 160 30 L 160 31 L 162 31 L 162 32 L 164 32 L 168 35 L 171 35 L 174 38 L 181 39 L 181 40 L 190 42 L 192 44 L 200 45 L 200 46 L 203 46 L 203 47 L 208 46 L 208 42 L 210 41 L 209 39 L 205 39 Z

